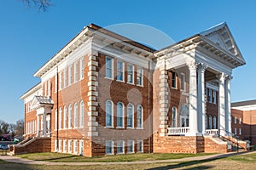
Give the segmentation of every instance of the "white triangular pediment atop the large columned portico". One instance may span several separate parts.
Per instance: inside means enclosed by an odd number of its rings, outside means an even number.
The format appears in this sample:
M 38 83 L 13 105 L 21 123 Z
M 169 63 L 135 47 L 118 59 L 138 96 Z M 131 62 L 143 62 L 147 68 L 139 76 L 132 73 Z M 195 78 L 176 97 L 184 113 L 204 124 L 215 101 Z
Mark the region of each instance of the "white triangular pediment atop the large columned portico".
M 204 37 L 207 37 L 207 39 L 214 42 L 218 47 L 224 49 L 226 52 L 245 62 L 226 23 L 213 26 L 206 31 L 202 31 L 200 34 Z

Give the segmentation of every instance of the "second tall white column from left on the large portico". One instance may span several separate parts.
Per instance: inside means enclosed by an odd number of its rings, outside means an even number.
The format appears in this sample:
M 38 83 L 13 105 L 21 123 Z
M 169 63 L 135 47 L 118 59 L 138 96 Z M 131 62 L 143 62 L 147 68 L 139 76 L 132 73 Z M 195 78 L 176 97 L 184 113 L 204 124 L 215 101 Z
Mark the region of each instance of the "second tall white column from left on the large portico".
M 198 65 L 198 129 L 200 133 L 206 130 L 206 106 L 205 106 L 205 71 L 207 65 L 201 63 Z

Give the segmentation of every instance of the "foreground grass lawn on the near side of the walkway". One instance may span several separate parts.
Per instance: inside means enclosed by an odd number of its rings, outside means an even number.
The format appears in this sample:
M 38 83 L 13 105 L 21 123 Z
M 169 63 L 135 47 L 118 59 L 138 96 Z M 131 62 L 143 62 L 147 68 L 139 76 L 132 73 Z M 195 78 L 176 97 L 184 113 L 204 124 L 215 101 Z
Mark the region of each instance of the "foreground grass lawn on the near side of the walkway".
M 0 157 L 1 158 L 1 157 Z M 172 163 L 148 163 L 148 164 L 131 164 L 125 165 L 120 163 L 119 165 L 97 165 L 97 166 L 47 166 L 47 165 L 24 165 L 16 163 L 8 163 L 0 161 L 0 169 L 19 169 L 19 170 L 73 170 L 73 169 L 245 169 L 251 170 L 256 166 L 256 154 L 248 154 L 243 156 L 230 156 L 227 158 L 221 158 L 216 160 L 205 160 L 205 161 L 183 161 L 183 162 L 172 162 Z

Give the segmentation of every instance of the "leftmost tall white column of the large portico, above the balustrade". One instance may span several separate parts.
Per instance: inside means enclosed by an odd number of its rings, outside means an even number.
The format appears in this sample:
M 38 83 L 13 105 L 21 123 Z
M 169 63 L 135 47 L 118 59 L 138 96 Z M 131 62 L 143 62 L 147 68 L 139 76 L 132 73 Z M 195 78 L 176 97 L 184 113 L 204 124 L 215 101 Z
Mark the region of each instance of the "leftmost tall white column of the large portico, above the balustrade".
M 198 134 L 197 116 L 197 81 L 195 61 L 189 63 L 189 133 Z

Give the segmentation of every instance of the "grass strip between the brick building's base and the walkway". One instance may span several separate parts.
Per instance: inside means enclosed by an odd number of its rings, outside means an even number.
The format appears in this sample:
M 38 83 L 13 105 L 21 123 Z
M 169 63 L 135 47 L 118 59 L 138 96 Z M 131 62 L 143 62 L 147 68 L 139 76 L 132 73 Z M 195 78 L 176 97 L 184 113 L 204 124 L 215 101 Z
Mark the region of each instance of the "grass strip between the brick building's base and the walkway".
M 110 161 L 151 161 L 151 160 L 167 160 L 179 159 L 183 157 L 192 156 L 206 156 L 209 154 L 129 154 L 129 155 L 115 155 L 115 156 L 99 156 L 99 157 L 84 157 L 73 156 L 70 154 L 62 153 L 33 153 L 19 155 L 21 158 L 36 160 L 36 161 L 55 161 L 55 162 L 110 162 Z

